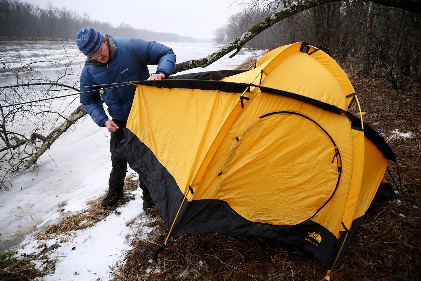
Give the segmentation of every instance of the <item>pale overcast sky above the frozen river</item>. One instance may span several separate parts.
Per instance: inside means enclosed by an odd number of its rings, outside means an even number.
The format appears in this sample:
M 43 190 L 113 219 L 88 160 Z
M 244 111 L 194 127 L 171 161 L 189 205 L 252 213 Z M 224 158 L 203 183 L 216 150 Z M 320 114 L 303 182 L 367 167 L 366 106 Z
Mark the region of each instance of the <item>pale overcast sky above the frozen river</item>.
M 48 0 L 21 0 L 45 8 Z M 181 36 L 211 39 L 230 15 L 240 11 L 232 0 L 54 0 L 53 7 L 66 7 L 91 19 L 112 25 L 125 22 L 134 28 L 172 32 Z

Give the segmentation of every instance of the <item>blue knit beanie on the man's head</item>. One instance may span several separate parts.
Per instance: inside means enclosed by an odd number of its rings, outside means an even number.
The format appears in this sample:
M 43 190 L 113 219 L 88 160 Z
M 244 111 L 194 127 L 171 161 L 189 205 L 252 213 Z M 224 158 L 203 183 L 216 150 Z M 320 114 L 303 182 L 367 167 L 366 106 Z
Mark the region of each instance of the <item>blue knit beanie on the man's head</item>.
M 92 27 L 84 27 L 77 32 L 77 48 L 87 57 L 96 53 L 102 45 L 104 35 Z

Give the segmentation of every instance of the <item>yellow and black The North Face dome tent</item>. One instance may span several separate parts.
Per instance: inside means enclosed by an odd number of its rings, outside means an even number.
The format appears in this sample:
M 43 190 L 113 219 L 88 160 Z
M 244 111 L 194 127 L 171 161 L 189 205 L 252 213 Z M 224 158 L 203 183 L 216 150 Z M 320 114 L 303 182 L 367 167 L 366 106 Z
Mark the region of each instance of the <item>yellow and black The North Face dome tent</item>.
M 276 239 L 332 269 L 395 161 L 348 111 L 356 96 L 338 64 L 297 42 L 249 71 L 170 78 L 135 82 L 120 146 L 171 229 L 168 238 Z

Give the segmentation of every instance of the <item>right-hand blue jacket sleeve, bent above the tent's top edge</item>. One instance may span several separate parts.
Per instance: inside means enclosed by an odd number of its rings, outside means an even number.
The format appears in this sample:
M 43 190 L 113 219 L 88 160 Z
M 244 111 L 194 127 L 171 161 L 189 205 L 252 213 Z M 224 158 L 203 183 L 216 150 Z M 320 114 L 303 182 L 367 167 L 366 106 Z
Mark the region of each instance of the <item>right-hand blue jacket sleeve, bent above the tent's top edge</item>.
M 143 65 L 158 65 L 156 73 L 168 77 L 176 66 L 176 54 L 173 49 L 155 41 L 132 39 L 133 48 Z

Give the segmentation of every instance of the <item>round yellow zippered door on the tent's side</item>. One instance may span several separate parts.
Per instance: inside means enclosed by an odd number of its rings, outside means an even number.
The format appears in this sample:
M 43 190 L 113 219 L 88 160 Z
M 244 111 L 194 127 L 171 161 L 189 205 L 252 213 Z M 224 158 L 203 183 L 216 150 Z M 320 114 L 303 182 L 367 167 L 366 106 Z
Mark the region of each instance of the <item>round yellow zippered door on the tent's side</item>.
M 295 225 L 314 216 L 339 183 L 340 156 L 328 133 L 295 112 L 254 119 L 222 164 L 222 199 L 256 223 Z

